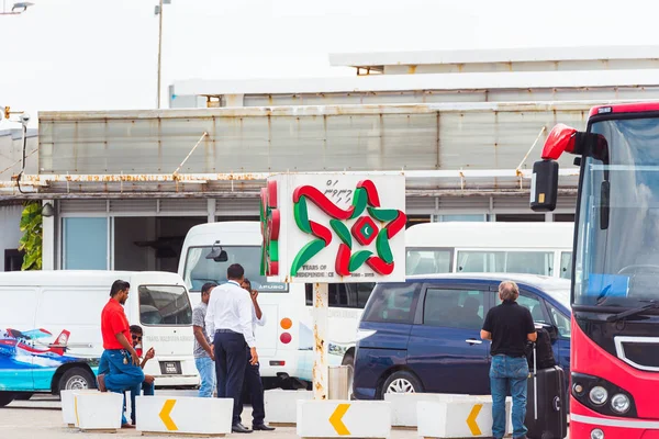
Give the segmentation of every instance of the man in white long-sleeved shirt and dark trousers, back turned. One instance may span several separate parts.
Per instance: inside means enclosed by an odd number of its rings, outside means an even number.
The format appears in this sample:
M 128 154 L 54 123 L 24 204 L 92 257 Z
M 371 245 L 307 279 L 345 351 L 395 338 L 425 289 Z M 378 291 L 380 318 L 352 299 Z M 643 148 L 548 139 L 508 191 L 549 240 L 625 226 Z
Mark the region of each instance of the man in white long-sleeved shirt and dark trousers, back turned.
M 217 397 L 234 401 L 232 431 L 252 432 L 241 423 L 241 397 L 247 368 L 246 347 L 252 357 L 249 363 L 258 364 L 253 325 L 253 304 L 249 293 L 241 288 L 245 270 L 234 263 L 226 270 L 228 282 L 215 286 L 205 316 L 206 331 L 213 337 Z

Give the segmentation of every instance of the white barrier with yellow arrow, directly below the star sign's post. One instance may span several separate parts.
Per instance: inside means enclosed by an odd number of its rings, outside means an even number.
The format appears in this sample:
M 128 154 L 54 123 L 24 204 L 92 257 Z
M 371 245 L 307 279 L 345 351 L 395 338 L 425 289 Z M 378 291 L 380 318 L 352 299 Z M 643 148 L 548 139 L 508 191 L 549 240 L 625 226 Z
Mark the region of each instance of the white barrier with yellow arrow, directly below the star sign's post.
M 391 403 L 384 401 L 299 401 L 301 438 L 389 438 Z

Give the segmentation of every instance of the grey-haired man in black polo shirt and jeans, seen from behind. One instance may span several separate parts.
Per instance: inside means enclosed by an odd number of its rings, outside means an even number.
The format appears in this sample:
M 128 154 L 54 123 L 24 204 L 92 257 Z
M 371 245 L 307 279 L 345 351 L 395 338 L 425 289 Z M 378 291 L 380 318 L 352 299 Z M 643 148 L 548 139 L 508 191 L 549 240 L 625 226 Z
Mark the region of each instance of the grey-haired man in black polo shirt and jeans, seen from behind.
M 501 305 L 488 313 L 481 338 L 492 340 L 490 353 L 490 387 L 492 390 L 492 436 L 505 435 L 505 397 L 510 389 L 513 397 L 513 438 L 525 439 L 526 427 L 526 380 L 528 363 L 524 354 L 527 340 L 535 341 L 537 334 L 530 312 L 517 305 L 520 289 L 513 281 L 503 281 L 499 285 Z

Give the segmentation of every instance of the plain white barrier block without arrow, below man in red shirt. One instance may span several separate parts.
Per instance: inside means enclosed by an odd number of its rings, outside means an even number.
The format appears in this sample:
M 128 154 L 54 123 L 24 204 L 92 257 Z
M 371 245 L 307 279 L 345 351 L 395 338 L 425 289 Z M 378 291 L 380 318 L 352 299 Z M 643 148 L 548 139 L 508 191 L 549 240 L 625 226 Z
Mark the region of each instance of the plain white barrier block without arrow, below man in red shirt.
M 115 432 L 121 428 L 123 394 L 75 391 L 74 409 L 81 431 Z

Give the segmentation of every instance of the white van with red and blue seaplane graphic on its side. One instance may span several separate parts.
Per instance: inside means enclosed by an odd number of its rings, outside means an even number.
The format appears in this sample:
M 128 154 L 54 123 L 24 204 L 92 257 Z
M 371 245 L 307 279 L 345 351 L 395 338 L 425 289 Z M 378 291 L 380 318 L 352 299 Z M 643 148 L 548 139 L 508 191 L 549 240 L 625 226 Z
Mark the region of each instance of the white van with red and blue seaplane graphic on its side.
M 157 387 L 192 387 L 192 309 L 183 280 L 168 272 L 22 271 L 0 273 L 0 406 L 35 392 L 96 387 L 103 351 L 101 311 L 118 280 L 125 307 L 156 357 L 144 372 Z

